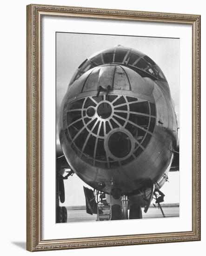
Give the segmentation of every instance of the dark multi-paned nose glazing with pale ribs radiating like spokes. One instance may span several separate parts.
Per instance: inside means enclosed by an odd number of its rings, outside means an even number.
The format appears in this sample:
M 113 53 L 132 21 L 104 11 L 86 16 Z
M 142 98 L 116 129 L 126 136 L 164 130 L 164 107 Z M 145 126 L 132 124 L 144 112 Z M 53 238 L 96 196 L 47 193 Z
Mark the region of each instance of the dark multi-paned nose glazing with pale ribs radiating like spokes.
M 105 119 L 97 113 L 103 103 L 112 108 L 111 115 Z M 88 116 L 89 108 L 94 109 L 93 116 Z M 156 109 L 149 101 L 127 95 L 87 96 L 67 105 L 64 124 L 69 144 L 83 161 L 96 167 L 116 168 L 132 162 L 146 148 L 156 124 Z M 128 135 L 134 143 L 121 158 L 108 148 L 109 138 L 118 132 Z

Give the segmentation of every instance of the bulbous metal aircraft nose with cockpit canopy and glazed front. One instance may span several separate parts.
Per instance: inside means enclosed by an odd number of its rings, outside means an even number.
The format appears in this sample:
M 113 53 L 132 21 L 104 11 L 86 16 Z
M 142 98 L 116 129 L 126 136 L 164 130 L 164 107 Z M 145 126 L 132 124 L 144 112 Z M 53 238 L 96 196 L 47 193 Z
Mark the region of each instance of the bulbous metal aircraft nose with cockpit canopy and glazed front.
M 140 206 L 147 203 L 143 190 L 149 196 L 166 182 L 178 136 L 164 74 L 148 56 L 122 46 L 80 65 L 61 105 L 59 130 L 80 179 Z

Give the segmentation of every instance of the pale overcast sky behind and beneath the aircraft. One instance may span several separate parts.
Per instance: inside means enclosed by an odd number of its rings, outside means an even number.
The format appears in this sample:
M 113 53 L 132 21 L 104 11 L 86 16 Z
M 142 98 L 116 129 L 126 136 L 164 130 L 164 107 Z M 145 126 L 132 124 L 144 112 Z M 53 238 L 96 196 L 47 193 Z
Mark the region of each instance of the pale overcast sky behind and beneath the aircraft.
M 73 73 L 90 55 L 116 45 L 134 48 L 148 55 L 161 68 L 168 81 L 179 121 L 179 39 L 101 34 L 56 34 L 56 111 L 59 114 L 61 101 L 66 94 Z M 57 128 L 57 140 L 59 138 Z M 171 173 L 162 191 L 166 202 L 179 202 L 179 172 Z M 64 205 L 83 205 L 83 184 L 73 175 L 65 181 Z M 173 189 L 177 193 L 172 193 Z

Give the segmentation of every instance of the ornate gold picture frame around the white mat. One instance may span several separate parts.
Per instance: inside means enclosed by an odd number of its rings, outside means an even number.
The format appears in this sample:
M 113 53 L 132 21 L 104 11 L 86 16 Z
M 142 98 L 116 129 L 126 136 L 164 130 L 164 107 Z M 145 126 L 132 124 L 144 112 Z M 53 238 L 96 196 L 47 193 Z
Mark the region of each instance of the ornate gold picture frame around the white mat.
M 43 191 L 45 177 L 43 177 L 42 124 L 44 115 L 43 94 L 42 38 L 45 30 L 42 20 L 44 17 L 75 20 L 89 19 L 93 22 L 113 20 L 116 22 L 142 22 L 149 24 L 165 24 L 178 26 L 188 25 L 192 31 L 191 38 L 191 106 L 187 109 L 191 117 L 191 229 L 173 232 L 149 232 L 124 234 L 124 230 L 117 235 L 73 236 L 70 238 L 44 237 L 45 216 L 42 213 L 44 205 Z M 73 24 L 74 24 L 73 23 Z M 75 25 L 73 25 L 75 26 Z M 63 29 L 62 29 L 63 30 Z M 62 31 L 64 32 L 64 31 Z M 85 33 L 85 31 L 81 31 Z M 53 37 L 55 41 L 55 35 Z M 180 39 L 181 40 L 181 39 Z M 54 50 L 55 51 L 55 50 Z M 188 71 L 190 72 L 190 70 Z M 55 84 L 55 81 L 53 81 Z M 180 84 L 181 86 L 181 84 Z M 54 102 L 55 104 L 55 102 Z M 54 114 L 55 115 L 55 114 Z M 53 124 L 55 126 L 55 124 Z M 186 147 L 187 145 L 185 145 Z M 184 150 L 184 146 L 182 146 Z M 181 158 L 180 158 L 181 161 Z M 181 170 L 180 170 L 181 171 Z M 44 179 L 43 179 L 44 178 Z M 55 198 L 55 195 L 54 195 Z M 55 199 L 54 199 L 55 200 Z M 53 210 L 53 209 L 51 209 Z M 55 210 L 54 210 L 55 211 Z M 180 212 L 181 214 L 181 212 Z M 54 220 L 55 222 L 55 220 Z M 67 223 L 66 223 L 67 224 Z M 66 225 L 65 224 L 65 225 Z M 94 223 L 95 224 L 95 223 Z M 73 223 L 73 229 L 75 229 Z M 62 226 L 63 227 L 63 226 Z M 78 249 L 106 246 L 135 245 L 148 243 L 171 243 L 200 240 L 200 15 L 176 13 L 152 13 L 128 10 L 109 10 L 84 7 L 63 7 L 28 5 L 27 6 L 27 250 Z

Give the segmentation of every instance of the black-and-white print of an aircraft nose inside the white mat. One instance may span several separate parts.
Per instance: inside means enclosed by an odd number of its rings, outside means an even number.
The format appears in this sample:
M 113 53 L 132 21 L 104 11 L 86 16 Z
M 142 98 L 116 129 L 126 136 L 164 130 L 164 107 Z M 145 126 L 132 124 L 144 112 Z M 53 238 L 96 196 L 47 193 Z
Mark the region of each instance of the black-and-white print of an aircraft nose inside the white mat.
M 56 32 L 56 223 L 179 217 L 179 38 Z

